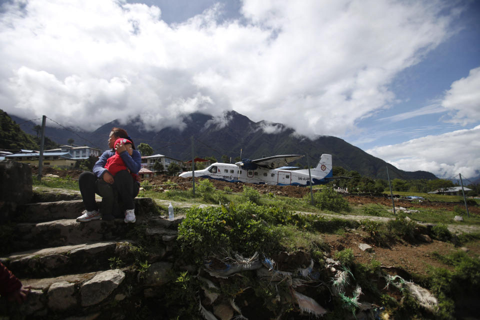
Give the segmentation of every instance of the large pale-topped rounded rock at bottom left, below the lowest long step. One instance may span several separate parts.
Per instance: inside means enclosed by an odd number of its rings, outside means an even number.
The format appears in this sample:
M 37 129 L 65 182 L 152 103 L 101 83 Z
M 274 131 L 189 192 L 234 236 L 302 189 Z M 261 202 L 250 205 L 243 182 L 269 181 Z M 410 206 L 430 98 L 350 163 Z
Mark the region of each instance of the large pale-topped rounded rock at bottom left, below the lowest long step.
M 125 273 L 119 269 L 95 275 L 80 287 L 81 305 L 89 306 L 103 301 L 123 281 Z

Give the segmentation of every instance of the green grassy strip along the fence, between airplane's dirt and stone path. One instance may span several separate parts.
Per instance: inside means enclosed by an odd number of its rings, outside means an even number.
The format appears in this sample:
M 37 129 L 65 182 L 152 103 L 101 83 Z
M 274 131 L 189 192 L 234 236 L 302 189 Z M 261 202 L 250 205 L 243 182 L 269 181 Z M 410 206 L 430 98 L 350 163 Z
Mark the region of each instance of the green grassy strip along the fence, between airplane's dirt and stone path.
M 42 185 L 47 187 L 53 188 L 67 188 L 78 190 L 78 182 L 75 179 L 71 179 L 69 177 L 66 178 L 58 178 L 58 177 L 43 177 L 41 181 L 36 179 L 36 176 L 33 177 L 33 185 Z M 172 184 L 173 186 L 173 184 Z M 167 188 L 167 187 L 166 187 Z M 339 214 L 339 215 L 365 215 L 365 216 L 381 216 L 381 217 L 389 217 L 395 218 L 397 216 L 405 216 L 407 215 L 409 218 L 427 222 L 427 223 L 441 223 L 441 224 L 448 224 L 448 223 L 455 223 L 459 225 L 480 225 L 480 216 L 475 214 L 470 214 L 470 217 L 467 218 L 466 214 L 464 214 L 464 206 L 461 205 L 463 201 L 463 197 L 461 196 L 453 196 L 453 195 L 441 195 L 441 194 L 428 194 L 428 193 L 421 193 L 421 192 L 401 192 L 401 191 L 394 191 L 395 194 L 399 194 L 400 196 L 407 196 L 407 195 L 414 195 L 414 196 L 421 196 L 425 199 L 430 201 L 438 201 L 438 202 L 445 202 L 445 203 L 458 203 L 454 207 L 453 210 L 446 210 L 443 208 L 425 208 L 422 206 L 415 207 L 414 203 L 411 212 L 403 213 L 402 211 L 397 210 L 396 214 L 393 214 L 391 211 L 391 206 L 382 205 L 378 203 L 370 203 L 367 205 L 350 205 L 350 209 L 348 211 L 342 210 L 340 212 L 335 212 L 329 210 L 328 208 L 320 209 L 317 206 L 311 205 L 309 196 L 304 198 L 294 198 L 294 197 L 285 197 L 285 196 L 278 196 L 272 193 L 268 194 L 259 194 L 256 190 L 252 188 L 248 188 L 246 191 L 244 190 L 242 193 L 234 193 L 228 188 L 224 190 L 217 190 L 214 189 L 213 185 L 208 180 L 203 180 L 197 182 L 195 196 L 190 190 L 177 190 L 177 189 L 167 189 L 164 192 L 158 192 L 152 190 L 148 183 L 142 184 L 142 189 L 138 196 L 141 197 L 151 197 L 153 199 L 160 199 L 160 200 L 172 200 L 177 202 L 184 202 L 185 204 L 218 204 L 219 202 L 227 203 L 242 203 L 245 200 L 250 200 L 257 204 L 265 205 L 265 206 L 280 206 L 286 210 L 290 211 L 305 211 L 305 212 L 312 212 L 312 213 L 330 213 L 330 214 Z M 478 199 L 476 199 L 479 201 Z M 457 222 L 453 221 L 453 217 L 455 215 L 463 214 L 464 220 Z

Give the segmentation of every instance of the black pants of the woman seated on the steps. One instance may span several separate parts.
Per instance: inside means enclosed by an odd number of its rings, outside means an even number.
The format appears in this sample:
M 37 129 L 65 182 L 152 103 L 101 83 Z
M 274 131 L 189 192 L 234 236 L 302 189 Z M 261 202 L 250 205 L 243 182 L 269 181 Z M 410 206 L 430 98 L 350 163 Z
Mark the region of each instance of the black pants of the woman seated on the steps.
M 113 177 L 113 184 L 97 178 L 93 172 L 85 171 L 78 177 L 78 187 L 87 211 L 98 210 L 95 193 L 102 197 L 101 215 L 112 214 L 122 217 L 123 211 L 134 209 L 133 199 L 138 194 L 139 185 L 126 170 L 118 171 Z M 121 203 L 118 203 L 121 201 Z

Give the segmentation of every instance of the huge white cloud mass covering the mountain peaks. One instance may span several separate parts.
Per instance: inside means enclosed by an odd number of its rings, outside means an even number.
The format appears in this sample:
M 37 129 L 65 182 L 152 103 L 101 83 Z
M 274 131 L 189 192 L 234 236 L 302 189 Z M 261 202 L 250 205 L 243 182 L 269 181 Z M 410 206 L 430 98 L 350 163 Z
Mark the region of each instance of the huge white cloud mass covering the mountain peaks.
M 139 114 L 160 128 L 181 126 L 181 113 L 234 109 L 337 136 L 388 107 L 391 79 L 448 37 L 453 14 L 444 1 L 245 0 L 244 24 L 217 22 L 214 6 L 168 25 L 145 4 L 18 3 L 0 15 L 9 113 L 84 128 Z

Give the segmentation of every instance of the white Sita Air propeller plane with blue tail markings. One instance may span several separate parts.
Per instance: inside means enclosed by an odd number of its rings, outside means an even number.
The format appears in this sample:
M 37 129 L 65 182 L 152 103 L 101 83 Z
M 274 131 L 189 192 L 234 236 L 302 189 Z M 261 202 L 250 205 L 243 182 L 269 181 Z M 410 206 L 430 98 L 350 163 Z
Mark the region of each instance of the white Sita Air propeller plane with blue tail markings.
M 255 160 L 243 159 L 235 164 L 215 162 L 206 169 L 195 170 L 195 176 L 227 182 L 307 186 L 310 181 L 308 169 L 290 170 L 296 167 L 284 166 L 301 157 L 301 154 L 283 154 Z M 334 179 L 331 154 L 323 153 L 316 167 L 310 169 L 310 175 L 312 185 L 328 183 Z M 179 176 L 191 177 L 192 171 L 183 172 Z

